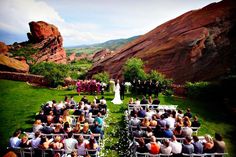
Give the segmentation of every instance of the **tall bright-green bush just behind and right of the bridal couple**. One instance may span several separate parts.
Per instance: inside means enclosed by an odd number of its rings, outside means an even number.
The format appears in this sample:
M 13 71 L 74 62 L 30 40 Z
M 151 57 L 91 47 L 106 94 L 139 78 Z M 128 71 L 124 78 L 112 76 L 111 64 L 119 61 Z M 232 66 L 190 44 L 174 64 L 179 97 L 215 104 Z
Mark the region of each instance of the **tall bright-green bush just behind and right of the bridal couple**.
M 145 80 L 146 73 L 143 70 L 144 63 L 139 58 L 128 59 L 123 67 L 126 81 Z

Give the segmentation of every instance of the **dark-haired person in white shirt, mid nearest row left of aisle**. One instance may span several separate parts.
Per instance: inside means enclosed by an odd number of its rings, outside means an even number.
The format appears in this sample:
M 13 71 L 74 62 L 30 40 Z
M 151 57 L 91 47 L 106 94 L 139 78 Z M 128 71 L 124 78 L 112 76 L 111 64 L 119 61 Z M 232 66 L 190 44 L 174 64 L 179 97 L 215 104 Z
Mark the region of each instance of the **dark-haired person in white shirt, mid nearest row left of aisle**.
M 64 140 L 64 149 L 67 154 L 71 153 L 76 149 L 76 146 L 78 144 L 78 141 L 74 138 L 72 138 L 73 133 L 69 132 L 68 133 L 68 138 Z

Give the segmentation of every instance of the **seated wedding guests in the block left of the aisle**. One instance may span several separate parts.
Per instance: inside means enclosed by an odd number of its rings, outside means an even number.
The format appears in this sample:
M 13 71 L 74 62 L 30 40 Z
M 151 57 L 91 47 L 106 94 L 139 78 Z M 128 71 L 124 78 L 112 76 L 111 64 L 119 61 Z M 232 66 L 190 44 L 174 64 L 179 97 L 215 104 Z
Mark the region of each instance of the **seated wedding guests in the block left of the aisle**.
M 10 147 L 31 147 L 36 151 L 49 148 L 58 151 L 64 149 L 65 153 L 71 156 L 72 154 L 85 156 L 87 149 L 99 148 L 99 141 L 94 134 L 100 134 L 100 137 L 103 137 L 103 116 L 106 113 L 107 106 L 104 97 L 100 100 L 95 97 L 92 103 L 87 100 L 86 96 L 83 96 L 78 104 L 73 97 L 70 100 L 65 97 L 64 102 L 58 104 L 54 100 L 49 101 L 42 106 L 42 110 L 35 117 L 33 138 L 29 138 L 28 134 L 22 134 L 20 138 L 21 131 L 16 131 L 10 138 Z M 72 118 L 71 114 L 78 118 Z M 52 136 L 47 136 L 47 134 Z M 86 134 L 88 139 L 83 137 Z M 60 156 L 60 153 L 54 155 Z

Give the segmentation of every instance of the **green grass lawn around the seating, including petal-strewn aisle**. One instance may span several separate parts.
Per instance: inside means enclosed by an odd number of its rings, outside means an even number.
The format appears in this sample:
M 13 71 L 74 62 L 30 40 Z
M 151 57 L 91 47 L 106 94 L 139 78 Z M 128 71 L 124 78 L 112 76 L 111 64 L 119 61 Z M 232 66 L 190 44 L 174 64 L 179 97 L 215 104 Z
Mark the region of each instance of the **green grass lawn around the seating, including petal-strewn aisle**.
M 9 138 L 16 129 L 32 128 L 35 113 L 39 111 L 42 103 L 52 99 L 60 101 L 65 96 L 71 95 L 74 95 L 76 101 L 82 97 L 78 96 L 75 91 L 33 87 L 24 82 L 0 80 L 0 150 L 6 148 Z M 125 130 L 123 118 L 130 95 L 125 97 L 122 105 L 113 105 L 110 102 L 113 97 L 112 93 L 105 94 L 109 117 L 106 120 L 108 127 L 105 130 L 103 156 L 122 156 L 127 148 L 127 145 L 124 144 L 127 139 L 123 134 Z M 92 100 L 94 97 L 88 96 L 88 98 Z M 202 123 L 198 135 L 222 133 L 230 153 L 229 156 L 234 156 L 235 141 L 232 135 L 235 126 L 232 123 L 232 117 L 224 110 L 224 106 L 219 108 L 214 103 L 163 95 L 160 95 L 160 101 L 161 104 L 178 105 L 182 109 L 190 107 L 193 114 L 200 117 Z

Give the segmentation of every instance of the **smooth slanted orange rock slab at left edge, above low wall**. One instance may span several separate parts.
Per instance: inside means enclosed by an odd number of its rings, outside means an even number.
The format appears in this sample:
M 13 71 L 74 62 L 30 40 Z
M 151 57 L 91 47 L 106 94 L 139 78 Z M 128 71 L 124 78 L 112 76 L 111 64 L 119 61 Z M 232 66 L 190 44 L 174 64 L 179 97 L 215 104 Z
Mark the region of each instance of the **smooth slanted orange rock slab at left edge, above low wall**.
M 16 71 L 16 72 L 28 72 L 29 65 L 18 61 L 14 58 L 7 57 L 0 54 L 0 70 L 3 71 Z

